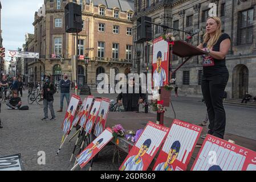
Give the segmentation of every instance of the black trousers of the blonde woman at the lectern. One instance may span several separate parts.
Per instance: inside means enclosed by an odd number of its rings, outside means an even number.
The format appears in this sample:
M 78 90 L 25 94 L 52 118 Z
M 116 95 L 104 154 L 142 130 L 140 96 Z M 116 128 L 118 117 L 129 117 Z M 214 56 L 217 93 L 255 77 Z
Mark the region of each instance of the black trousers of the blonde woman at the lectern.
M 229 80 L 229 73 L 202 77 L 202 94 L 209 116 L 208 134 L 224 139 L 226 113 L 223 106 L 224 91 Z

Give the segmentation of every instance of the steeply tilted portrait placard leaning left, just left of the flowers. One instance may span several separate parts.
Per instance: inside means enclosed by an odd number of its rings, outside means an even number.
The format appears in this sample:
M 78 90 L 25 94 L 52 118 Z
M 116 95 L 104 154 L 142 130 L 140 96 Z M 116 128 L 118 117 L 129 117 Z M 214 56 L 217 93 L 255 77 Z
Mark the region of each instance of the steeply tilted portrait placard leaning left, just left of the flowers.
M 76 157 L 78 164 L 81 168 L 94 158 L 94 156 L 100 152 L 100 150 L 108 144 L 113 138 L 113 131 L 108 127 L 92 142 L 86 149 Z

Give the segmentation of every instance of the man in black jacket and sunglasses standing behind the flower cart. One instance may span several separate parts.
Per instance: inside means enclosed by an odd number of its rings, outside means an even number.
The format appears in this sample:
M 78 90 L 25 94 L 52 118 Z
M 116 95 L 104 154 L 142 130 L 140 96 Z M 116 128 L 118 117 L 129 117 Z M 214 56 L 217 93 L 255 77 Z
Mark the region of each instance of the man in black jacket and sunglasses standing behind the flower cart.
M 145 101 L 146 94 L 141 93 L 140 87 L 139 93 L 135 93 L 135 89 L 135 79 L 130 78 L 129 84 L 127 85 L 127 93 L 120 93 L 117 96 L 117 102 L 119 104 L 123 103 L 125 111 L 139 111 L 139 104 Z M 133 90 L 133 93 L 129 93 L 129 90 Z M 122 99 L 123 101 L 121 101 Z

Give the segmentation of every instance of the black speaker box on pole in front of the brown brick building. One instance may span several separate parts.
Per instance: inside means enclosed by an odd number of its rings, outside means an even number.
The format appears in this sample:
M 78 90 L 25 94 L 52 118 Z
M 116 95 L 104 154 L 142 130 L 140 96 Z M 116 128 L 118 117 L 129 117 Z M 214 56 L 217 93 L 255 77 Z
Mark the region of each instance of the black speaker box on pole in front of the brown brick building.
M 81 32 L 83 29 L 82 7 L 70 2 L 65 6 L 65 27 L 67 33 Z

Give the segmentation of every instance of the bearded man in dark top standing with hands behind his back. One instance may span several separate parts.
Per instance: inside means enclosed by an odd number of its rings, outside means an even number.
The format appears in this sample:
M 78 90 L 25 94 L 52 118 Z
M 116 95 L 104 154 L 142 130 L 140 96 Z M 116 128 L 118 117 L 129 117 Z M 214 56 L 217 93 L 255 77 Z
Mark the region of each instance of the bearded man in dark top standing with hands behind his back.
M 64 73 L 63 77 L 64 77 L 64 80 L 60 80 L 60 83 L 59 83 L 59 86 L 60 86 L 60 110 L 58 110 L 58 112 L 63 111 L 64 97 L 66 97 L 67 105 L 70 104 L 71 81 L 68 80 L 68 76 L 66 73 Z

